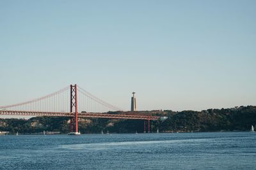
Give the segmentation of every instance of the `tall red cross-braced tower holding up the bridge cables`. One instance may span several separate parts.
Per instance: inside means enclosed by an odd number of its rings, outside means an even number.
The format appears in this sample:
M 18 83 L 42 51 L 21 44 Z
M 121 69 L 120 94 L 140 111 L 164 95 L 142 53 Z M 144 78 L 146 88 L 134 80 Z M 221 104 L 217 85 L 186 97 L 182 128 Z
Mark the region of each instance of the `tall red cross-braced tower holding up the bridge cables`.
M 70 113 L 74 113 L 74 117 L 70 117 L 70 132 L 74 132 L 74 124 L 76 126 L 76 134 L 78 134 L 78 113 L 77 113 L 77 85 L 70 85 Z

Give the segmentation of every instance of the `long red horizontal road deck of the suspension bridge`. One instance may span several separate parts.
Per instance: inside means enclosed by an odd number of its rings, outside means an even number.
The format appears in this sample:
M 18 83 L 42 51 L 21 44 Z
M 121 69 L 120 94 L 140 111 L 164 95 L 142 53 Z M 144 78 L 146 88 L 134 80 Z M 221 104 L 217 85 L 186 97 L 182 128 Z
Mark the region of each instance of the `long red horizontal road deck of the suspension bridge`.
M 0 115 L 30 116 L 30 117 L 74 117 L 70 112 L 47 112 L 47 111 L 15 111 L 0 110 Z M 159 120 L 161 117 L 152 117 L 147 115 L 118 115 L 107 113 L 78 113 L 78 117 L 84 118 L 122 118 L 137 120 Z

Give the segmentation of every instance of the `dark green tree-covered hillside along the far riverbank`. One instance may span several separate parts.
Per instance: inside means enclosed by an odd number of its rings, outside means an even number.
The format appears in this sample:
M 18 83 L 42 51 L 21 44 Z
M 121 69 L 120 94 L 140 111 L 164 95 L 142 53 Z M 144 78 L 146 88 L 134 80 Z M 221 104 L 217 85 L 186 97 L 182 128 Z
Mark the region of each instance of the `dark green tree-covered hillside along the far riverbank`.
M 113 113 L 113 112 L 112 112 Z M 118 112 L 115 112 L 118 114 Z M 206 132 L 206 131 L 248 131 L 256 125 L 256 106 L 241 106 L 231 109 L 209 109 L 203 111 L 141 111 L 137 114 L 166 116 L 164 122 L 152 121 L 151 131 L 156 132 Z M 124 114 L 124 113 L 123 113 Z M 25 119 L 0 119 L 0 131 L 21 134 L 42 133 L 42 131 L 69 132 L 66 117 L 33 117 Z M 81 119 L 81 133 L 143 132 L 143 120 L 111 120 L 105 118 Z

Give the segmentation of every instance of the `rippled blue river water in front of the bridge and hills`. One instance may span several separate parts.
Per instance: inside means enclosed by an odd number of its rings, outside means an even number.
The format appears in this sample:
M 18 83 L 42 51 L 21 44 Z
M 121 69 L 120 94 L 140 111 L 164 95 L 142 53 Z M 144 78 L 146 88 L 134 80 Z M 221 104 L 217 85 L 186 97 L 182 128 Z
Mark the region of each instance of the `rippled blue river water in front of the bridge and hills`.
M 0 169 L 256 169 L 256 133 L 0 136 Z

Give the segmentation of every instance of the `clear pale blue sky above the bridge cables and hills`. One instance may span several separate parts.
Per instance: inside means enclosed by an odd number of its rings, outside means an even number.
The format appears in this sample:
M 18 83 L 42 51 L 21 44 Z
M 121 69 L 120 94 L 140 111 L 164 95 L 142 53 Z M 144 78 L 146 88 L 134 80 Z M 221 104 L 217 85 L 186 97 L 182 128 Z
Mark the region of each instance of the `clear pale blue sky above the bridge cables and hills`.
M 256 1 L 0 1 L 0 105 L 77 83 L 129 110 L 256 105 Z

